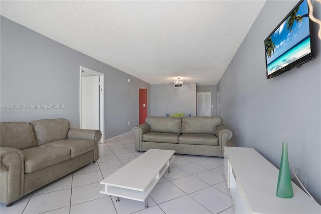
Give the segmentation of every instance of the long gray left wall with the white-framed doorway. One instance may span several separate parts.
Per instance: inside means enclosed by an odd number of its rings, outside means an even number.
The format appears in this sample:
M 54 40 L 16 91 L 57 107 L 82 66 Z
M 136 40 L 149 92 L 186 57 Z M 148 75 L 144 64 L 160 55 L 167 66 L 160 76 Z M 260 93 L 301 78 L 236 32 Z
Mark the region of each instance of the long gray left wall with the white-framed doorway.
M 138 125 L 139 86 L 147 88 L 150 106 L 148 83 L 1 16 L 1 104 L 64 104 L 1 109 L 1 122 L 66 118 L 79 128 L 80 66 L 105 74 L 105 138 Z

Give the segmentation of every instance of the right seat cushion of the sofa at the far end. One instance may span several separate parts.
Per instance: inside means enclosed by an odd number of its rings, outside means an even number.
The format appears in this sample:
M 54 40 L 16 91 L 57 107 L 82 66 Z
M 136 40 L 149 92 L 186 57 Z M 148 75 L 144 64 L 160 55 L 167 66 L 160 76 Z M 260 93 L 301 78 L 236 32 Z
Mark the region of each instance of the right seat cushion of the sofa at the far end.
M 182 134 L 179 137 L 179 144 L 218 146 L 219 139 L 211 134 Z

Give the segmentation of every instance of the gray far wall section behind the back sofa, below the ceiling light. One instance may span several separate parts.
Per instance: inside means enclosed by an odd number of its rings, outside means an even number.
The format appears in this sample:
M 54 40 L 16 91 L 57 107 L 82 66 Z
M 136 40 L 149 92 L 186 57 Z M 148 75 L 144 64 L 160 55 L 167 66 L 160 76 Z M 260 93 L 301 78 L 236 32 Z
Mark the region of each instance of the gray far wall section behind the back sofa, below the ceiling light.
M 150 115 L 183 113 L 196 116 L 196 83 L 183 83 L 175 88 L 172 84 L 153 84 L 150 86 Z

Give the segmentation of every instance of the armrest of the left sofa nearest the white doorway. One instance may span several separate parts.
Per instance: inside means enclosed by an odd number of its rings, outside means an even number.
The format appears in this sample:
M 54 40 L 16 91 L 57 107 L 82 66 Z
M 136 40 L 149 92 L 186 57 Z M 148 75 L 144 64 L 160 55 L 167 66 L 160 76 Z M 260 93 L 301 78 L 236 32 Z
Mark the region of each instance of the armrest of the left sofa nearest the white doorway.
M 67 133 L 67 139 L 78 139 L 78 140 L 93 140 L 96 142 L 96 148 L 94 150 L 94 160 L 99 158 L 98 142 L 101 139 L 101 132 L 99 130 L 91 129 L 73 129 L 70 128 Z M 104 141 L 104 139 L 103 139 Z M 102 142 L 104 143 L 104 142 Z

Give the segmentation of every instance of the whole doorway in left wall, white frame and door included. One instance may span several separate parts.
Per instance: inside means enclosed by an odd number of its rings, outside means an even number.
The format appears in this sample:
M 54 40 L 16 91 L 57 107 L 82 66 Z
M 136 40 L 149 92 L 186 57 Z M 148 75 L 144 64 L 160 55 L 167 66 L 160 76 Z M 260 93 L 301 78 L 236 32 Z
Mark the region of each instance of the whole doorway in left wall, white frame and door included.
M 105 140 L 104 74 L 80 66 L 80 129 L 100 130 Z

